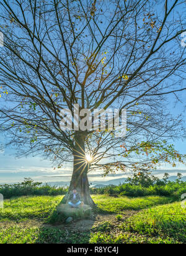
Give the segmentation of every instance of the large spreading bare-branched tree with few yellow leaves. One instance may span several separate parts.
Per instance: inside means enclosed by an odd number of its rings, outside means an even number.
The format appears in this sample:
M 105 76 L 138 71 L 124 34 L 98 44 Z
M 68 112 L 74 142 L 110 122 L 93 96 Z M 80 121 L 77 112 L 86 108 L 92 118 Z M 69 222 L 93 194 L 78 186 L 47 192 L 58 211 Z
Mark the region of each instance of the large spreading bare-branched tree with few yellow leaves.
M 182 161 L 166 145 L 184 132 L 167 108 L 167 96 L 186 89 L 184 9 L 179 0 L 1 0 L 0 120 L 9 143 L 58 167 L 73 162 L 69 192 L 78 188 L 92 206 L 89 171 Z M 61 130 L 60 111 L 74 104 L 127 109 L 126 136 Z

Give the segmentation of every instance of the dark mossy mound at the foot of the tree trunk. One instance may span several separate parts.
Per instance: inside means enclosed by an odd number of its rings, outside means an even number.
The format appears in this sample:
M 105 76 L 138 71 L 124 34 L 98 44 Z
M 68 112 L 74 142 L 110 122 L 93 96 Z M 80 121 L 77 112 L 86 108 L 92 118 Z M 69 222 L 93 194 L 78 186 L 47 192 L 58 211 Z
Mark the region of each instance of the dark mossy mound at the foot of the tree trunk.
M 83 219 L 91 215 L 92 208 L 86 204 L 81 204 L 78 208 L 72 208 L 69 204 L 61 203 L 58 205 L 56 211 L 65 218 L 72 217 L 73 219 Z

